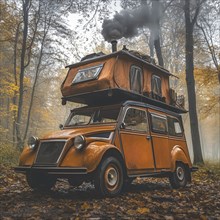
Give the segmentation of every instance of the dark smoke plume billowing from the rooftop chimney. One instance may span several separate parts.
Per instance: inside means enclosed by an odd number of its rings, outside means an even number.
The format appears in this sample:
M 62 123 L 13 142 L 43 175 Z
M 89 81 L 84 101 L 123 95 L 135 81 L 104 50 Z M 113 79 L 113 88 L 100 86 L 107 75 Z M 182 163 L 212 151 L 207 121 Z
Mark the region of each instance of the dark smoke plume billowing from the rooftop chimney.
M 150 25 L 150 17 L 150 10 L 146 5 L 134 10 L 123 10 L 116 13 L 113 19 L 104 20 L 102 35 L 109 42 L 122 37 L 134 37 L 138 34 L 138 28 Z

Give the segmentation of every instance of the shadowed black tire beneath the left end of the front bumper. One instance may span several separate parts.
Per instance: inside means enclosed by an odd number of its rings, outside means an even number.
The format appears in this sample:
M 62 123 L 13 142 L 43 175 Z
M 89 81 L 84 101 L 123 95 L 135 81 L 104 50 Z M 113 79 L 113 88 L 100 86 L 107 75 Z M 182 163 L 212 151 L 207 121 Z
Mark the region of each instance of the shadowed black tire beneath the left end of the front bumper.
M 37 191 L 49 191 L 56 184 L 56 178 L 45 174 L 26 174 L 26 180 L 30 188 Z

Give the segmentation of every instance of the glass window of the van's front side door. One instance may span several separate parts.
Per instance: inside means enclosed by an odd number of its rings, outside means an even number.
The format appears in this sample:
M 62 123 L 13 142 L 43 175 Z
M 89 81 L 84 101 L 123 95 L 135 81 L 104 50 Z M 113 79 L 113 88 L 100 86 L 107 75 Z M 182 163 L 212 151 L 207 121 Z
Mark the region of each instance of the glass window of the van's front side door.
M 135 131 L 148 131 L 146 112 L 140 109 L 129 108 L 124 118 L 124 128 Z

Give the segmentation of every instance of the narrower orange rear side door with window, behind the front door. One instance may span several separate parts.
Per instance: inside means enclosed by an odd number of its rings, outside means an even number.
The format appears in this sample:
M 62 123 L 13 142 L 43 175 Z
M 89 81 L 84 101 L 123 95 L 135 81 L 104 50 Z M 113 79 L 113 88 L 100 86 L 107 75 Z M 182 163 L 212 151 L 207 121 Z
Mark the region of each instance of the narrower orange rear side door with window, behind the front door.
M 151 138 L 157 169 L 170 169 L 171 150 L 168 139 L 167 117 L 156 111 L 150 112 Z

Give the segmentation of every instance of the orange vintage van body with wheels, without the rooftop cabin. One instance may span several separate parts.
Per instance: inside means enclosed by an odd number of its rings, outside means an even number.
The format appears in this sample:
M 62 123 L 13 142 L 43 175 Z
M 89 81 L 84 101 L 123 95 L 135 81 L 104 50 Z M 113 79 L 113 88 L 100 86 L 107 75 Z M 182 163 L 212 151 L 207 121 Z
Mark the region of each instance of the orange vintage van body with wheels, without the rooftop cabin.
M 67 178 L 74 186 L 92 181 L 114 196 L 135 177 L 167 177 L 173 188 L 184 187 L 193 167 L 180 115 L 125 101 L 72 110 L 62 130 L 30 138 L 15 170 L 33 189 Z

